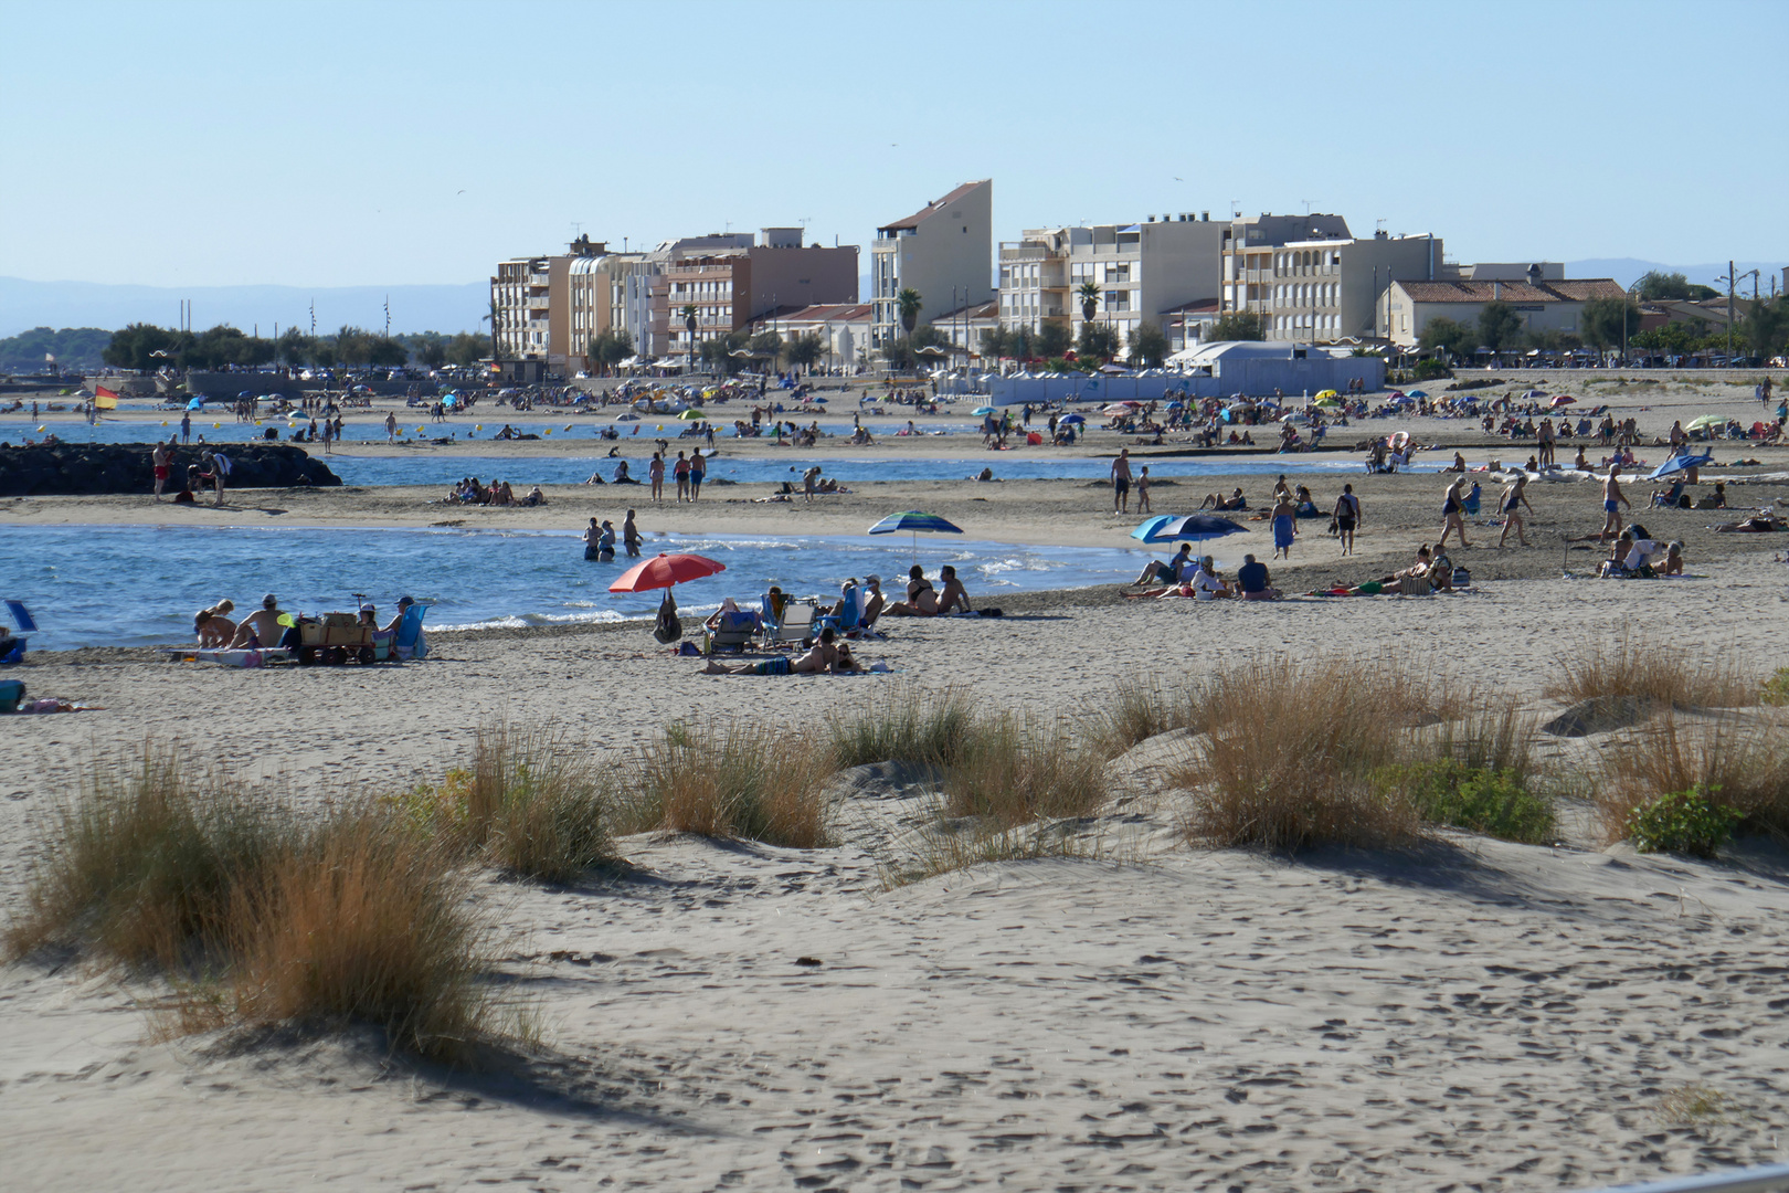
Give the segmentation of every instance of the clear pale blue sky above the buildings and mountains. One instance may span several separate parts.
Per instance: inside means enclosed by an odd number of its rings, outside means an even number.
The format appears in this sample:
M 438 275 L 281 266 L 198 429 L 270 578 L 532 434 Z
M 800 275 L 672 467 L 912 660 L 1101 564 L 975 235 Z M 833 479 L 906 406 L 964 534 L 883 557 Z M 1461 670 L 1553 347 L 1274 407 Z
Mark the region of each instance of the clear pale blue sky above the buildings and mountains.
M 1789 259 L 1789 2 L 0 0 L 0 274 L 465 283 L 878 222 L 1315 211 L 1460 261 Z

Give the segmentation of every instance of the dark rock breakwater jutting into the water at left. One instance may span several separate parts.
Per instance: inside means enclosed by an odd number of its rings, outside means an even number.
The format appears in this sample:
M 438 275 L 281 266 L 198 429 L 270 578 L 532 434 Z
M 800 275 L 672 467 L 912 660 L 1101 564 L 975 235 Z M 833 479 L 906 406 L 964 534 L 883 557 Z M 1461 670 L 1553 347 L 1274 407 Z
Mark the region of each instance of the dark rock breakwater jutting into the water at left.
M 0 497 L 148 495 L 156 492 L 150 449 L 152 444 L 0 445 Z M 329 465 L 290 444 L 184 444 L 172 449 L 172 470 L 163 494 L 170 497 L 177 494 L 186 467 L 197 463 L 204 469 L 204 453 L 213 449 L 222 451 L 231 460 L 225 492 L 342 483 L 342 478 L 331 472 Z

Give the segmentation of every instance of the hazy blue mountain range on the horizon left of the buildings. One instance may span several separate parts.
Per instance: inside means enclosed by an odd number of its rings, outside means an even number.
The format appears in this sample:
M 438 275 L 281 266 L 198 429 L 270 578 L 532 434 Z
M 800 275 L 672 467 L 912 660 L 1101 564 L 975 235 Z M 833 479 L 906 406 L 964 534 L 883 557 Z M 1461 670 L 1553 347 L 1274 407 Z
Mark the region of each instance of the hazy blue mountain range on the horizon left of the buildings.
M 0 336 L 30 327 L 106 327 L 161 324 L 174 327 L 181 299 L 191 299 L 193 329 L 233 324 L 263 336 L 277 324 L 317 331 L 343 324 L 385 331 L 385 300 L 392 300 L 392 331 L 479 331 L 490 311 L 490 283 L 456 286 L 111 286 L 84 281 L 25 281 L 0 277 Z

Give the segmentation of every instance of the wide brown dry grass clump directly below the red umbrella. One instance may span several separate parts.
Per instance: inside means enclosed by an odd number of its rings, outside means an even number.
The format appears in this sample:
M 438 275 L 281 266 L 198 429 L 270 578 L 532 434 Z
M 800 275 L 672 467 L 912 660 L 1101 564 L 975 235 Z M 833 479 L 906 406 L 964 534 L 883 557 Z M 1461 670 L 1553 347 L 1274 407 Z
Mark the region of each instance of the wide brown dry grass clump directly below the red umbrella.
M 703 837 L 827 844 L 828 751 L 801 733 L 742 721 L 678 726 L 639 758 L 624 825 Z

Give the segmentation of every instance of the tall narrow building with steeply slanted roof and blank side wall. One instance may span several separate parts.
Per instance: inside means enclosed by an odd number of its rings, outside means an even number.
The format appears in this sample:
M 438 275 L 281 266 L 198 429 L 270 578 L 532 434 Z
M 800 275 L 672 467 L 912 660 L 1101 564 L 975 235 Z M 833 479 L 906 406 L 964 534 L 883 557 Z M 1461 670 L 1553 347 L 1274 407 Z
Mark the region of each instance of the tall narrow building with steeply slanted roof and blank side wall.
M 920 324 L 932 324 L 954 306 L 993 299 L 991 279 L 993 181 L 980 179 L 877 229 L 869 250 L 871 345 L 905 334 L 894 302 L 902 290 L 920 295 Z

